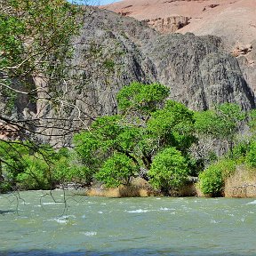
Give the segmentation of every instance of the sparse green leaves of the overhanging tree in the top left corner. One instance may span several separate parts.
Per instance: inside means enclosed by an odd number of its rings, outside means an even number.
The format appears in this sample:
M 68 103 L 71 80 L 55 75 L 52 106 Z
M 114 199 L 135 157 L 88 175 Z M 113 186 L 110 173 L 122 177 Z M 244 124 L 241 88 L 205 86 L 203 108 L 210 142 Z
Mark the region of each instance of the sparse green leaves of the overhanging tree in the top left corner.
M 1 7 L 0 70 L 20 79 L 56 72 L 56 63 L 70 54 L 71 36 L 79 32 L 80 9 L 65 0 L 6 0 Z

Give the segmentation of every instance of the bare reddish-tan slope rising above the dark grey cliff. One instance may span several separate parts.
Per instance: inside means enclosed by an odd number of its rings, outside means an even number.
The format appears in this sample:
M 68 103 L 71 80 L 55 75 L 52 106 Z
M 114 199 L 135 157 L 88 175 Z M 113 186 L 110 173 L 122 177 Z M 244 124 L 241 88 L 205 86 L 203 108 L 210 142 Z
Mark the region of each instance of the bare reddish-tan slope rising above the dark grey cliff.
M 256 49 L 252 47 L 256 37 L 256 1 L 123 0 L 103 8 L 145 20 L 162 33 L 220 36 L 225 50 L 239 59 L 247 82 L 256 92 Z

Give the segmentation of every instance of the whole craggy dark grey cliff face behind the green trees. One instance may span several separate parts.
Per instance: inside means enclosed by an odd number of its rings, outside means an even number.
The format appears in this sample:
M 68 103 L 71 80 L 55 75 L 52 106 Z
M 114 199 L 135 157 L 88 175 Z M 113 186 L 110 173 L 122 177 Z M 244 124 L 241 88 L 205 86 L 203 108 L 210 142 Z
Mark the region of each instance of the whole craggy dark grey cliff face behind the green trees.
M 165 84 L 170 98 L 195 110 L 223 102 L 255 108 L 237 59 L 223 50 L 219 37 L 163 36 L 145 22 L 93 8 L 74 43 L 68 87 L 60 82 L 58 88 L 66 103 L 44 108 L 45 120 L 58 117 L 46 132 L 59 145 L 70 144 L 67 131 L 86 127 L 96 116 L 116 114 L 116 92 L 134 81 Z M 42 105 L 37 102 L 36 116 Z M 64 128 L 65 140 L 54 139 L 60 133 L 56 127 Z

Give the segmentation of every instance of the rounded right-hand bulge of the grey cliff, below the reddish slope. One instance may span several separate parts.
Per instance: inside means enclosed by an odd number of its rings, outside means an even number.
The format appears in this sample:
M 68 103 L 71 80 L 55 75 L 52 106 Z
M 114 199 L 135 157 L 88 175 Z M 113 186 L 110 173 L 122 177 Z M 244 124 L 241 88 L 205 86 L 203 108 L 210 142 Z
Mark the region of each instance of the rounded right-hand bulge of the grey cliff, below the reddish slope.
M 223 102 L 240 102 L 244 109 L 254 106 L 237 60 L 220 49 L 219 38 L 174 34 L 159 37 L 147 49 L 158 80 L 188 108 L 207 109 Z

